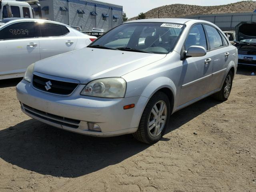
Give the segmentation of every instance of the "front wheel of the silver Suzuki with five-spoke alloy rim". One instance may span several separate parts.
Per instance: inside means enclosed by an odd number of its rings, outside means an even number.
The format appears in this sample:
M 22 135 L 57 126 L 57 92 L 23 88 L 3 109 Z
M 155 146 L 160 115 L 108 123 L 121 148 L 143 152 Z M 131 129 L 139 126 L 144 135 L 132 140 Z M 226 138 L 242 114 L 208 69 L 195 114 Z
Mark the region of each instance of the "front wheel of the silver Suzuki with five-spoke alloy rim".
M 168 126 L 170 114 L 168 96 L 163 92 L 156 92 L 142 113 L 137 132 L 132 135 L 136 140 L 147 144 L 158 142 Z

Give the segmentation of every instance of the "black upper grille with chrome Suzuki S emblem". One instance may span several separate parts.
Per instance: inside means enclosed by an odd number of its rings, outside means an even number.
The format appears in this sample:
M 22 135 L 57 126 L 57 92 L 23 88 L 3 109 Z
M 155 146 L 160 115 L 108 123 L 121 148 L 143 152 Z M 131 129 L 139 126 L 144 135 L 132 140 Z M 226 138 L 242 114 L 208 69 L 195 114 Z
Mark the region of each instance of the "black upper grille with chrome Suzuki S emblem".
M 49 89 L 46 89 L 47 82 L 50 81 L 50 87 Z M 33 86 L 39 90 L 54 93 L 54 94 L 60 94 L 60 95 L 69 95 L 71 94 L 75 88 L 78 86 L 76 83 L 70 83 L 70 82 L 63 82 L 63 81 L 57 81 L 52 80 L 48 78 L 43 78 L 37 75 L 33 76 Z

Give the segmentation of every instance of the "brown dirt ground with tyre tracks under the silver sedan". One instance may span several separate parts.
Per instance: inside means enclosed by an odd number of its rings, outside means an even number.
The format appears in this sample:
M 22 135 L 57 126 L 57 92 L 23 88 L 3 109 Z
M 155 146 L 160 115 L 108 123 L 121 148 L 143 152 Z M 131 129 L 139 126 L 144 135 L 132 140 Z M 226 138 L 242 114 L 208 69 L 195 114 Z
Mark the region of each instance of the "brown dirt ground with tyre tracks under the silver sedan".
M 94 138 L 23 114 L 0 81 L 1 192 L 256 192 L 256 68 L 239 67 L 230 98 L 171 116 L 160 142 Z

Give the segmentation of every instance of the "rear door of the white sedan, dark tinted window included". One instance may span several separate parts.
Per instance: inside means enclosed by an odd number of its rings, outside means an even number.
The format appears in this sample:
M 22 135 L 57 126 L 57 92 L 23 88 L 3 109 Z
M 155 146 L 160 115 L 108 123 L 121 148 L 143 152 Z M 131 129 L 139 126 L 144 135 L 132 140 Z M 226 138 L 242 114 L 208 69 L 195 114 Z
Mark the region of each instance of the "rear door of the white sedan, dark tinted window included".
M 43 22 L 39 26 L 41 31 L 40 59 L 74 50 L 77 37 L 72 30 L 64 25 L 51 22 Z

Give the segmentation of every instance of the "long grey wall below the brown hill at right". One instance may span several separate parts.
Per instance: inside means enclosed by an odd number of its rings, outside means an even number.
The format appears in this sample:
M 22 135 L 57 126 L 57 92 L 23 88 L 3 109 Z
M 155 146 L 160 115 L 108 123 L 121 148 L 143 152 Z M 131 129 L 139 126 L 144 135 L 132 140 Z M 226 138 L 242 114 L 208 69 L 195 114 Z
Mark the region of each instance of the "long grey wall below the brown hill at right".
M 235 30 L 235 26 L 242 21 L 256 22 L 256 12 L 194 15 L 185 18 L 206 20 L 216 24 L 221 30 L 228 31 Z

